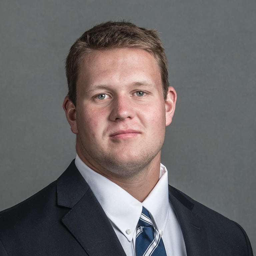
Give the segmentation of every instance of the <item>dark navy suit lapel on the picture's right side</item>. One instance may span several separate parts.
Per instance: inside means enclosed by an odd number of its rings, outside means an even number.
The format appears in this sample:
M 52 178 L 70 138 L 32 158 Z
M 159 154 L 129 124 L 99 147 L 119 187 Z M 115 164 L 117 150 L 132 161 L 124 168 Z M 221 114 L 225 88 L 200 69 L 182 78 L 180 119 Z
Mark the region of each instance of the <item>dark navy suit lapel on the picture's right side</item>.
M 210 255 L 204 223 L 193 213 L 194 204 L 171 186 L 169 186 L 169 200 L 180 223 L 187 256 Z

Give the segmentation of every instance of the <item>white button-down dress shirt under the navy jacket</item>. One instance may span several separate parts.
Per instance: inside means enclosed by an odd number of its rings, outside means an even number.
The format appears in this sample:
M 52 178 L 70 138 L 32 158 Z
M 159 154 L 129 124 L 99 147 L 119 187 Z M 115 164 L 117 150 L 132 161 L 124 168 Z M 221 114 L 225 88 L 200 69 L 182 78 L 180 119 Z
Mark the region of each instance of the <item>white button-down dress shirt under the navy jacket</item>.
M 144 206 L 163 239 L 167 256 L 186 256 L 177 217 L 168 199 L 168 176 L 164 165 L 156 186 L 141 203 L 117 184 L 90 169 L 77 155 L 75 165 L 109 218 L 127 256 L 135 256 L 136 228 Z

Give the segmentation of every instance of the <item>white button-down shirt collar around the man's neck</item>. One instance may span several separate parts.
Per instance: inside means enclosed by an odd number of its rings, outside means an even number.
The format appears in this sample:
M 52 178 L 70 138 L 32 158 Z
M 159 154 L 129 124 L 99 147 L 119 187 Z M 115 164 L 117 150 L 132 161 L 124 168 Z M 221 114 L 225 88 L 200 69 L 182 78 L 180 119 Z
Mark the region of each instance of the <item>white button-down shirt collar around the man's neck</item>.
M 120 232 L 132 241 L 144 206 L 153 216 L 156 228 L 165 229 L 169 214 L 168 177 L 164 165 L 160 166 L 160 179 L 141 203 L 117 184 L 89 168 L 76 155 L 75 165 L 86 180 L 107 217 Z

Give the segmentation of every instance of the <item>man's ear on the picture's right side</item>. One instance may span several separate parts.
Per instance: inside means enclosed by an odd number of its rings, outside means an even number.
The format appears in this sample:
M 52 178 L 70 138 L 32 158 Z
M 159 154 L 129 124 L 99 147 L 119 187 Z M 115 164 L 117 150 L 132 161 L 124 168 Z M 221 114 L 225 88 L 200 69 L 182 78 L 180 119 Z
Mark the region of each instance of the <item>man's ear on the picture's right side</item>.
M 177 100 L 177 93 L 173 87 L 169 86 L 167 92 L 167 98 L 165 100 L 165 126 L 168 126 L 172 122 L 172 117 L 175 111 L 175 105 Z

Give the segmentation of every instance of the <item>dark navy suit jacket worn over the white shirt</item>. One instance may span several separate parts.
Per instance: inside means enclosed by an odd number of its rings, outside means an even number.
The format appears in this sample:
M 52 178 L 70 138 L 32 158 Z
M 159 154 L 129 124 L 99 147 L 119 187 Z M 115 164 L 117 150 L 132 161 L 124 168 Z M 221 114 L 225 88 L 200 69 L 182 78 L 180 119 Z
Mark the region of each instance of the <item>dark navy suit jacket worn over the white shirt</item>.
M 169 186 L 187 256 L 252 256 L 235 222 Z M 125 252 L 74 160 L 46 188 L 0 213 L 0 256 L 124 256 Z

